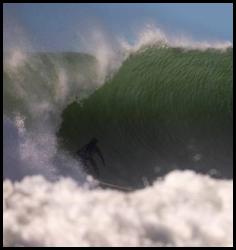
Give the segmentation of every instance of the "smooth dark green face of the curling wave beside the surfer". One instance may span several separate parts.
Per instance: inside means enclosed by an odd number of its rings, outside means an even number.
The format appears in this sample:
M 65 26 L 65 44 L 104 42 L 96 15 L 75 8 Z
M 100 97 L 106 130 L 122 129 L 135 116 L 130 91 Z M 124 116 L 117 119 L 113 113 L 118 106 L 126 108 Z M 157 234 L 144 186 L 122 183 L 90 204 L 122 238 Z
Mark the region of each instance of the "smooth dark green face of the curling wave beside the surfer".
M 141 187 L 173 169 L 231 178 L 232 72 L 232 48 L 143 48 L 66 107 L 58 138 L 75 152 L 96 137 L 101 180 L 120 185 Z

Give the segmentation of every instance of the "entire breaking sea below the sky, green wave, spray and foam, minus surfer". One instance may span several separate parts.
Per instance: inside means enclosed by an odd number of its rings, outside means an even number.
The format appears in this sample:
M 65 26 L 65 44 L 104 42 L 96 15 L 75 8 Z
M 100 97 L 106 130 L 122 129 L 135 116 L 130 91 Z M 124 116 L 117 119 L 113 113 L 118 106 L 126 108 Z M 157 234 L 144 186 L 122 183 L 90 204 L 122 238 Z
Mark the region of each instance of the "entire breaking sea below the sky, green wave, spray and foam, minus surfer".
M 232 44 L 87 40 L 4 53 L 3 245 L 232 246 Z M 100 180 L 74 155 L 93 136 Z

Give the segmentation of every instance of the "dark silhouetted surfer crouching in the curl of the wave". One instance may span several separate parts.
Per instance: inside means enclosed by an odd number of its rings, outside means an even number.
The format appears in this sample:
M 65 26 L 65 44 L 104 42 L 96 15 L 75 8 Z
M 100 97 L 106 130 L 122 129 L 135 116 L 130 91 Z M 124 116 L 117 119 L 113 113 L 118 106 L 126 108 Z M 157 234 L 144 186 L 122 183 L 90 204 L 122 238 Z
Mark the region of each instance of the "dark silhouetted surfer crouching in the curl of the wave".
M 84 145 L 80 150 L 77 151 L 77 154 L 79 155 L 84 166 L 88 169 L 90 168 L 90 166 L 92 166 L 96 176 L 99 177 L 99 169 L 93 159 L 93 155 L 97 154 L 101 158 L 104 166 L 105 160 L 102 156 L 100 149 L 97 146 L 97 143 L 98 140 L 96 138 L 92 138 L 92 140 L 88 144 Z

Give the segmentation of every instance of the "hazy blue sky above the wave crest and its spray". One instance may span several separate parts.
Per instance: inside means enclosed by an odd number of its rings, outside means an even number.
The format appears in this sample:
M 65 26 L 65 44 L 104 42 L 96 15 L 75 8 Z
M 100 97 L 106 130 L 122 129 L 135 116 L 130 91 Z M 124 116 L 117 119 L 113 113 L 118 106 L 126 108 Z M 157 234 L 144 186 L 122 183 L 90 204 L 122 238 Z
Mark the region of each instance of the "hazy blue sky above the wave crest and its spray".
M 230 3 L 5 3 L 3 14 L 5 47 L 25 37 L 36 50 L 77 50 L 78 35 L 90 27 L 132 42 L 148 23 L 196 40 L 233 40 Z

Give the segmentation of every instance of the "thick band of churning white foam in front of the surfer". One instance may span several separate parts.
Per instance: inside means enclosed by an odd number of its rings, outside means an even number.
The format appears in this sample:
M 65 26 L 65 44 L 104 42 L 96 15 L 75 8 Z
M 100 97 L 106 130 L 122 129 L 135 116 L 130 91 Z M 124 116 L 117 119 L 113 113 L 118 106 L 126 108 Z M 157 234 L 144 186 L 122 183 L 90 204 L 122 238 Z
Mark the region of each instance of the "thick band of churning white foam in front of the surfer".
M 173 171 L 143 190 L 3 184 L 4 246 L 232 246 L 233 181 Z

